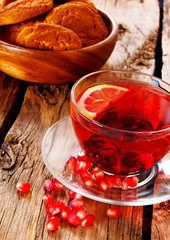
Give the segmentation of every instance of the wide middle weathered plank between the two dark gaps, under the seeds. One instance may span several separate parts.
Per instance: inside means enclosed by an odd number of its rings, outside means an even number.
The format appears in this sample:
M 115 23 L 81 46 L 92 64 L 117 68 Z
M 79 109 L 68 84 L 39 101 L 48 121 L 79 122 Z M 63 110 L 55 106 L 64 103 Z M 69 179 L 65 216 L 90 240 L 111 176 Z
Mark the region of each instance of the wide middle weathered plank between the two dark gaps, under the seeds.
M 115 51 L 104 68 L 138 69 L 152 74 L 159 28 L 157 0 L 93 2 L 115 17 L 120 29 Z M 22 109 L 5 138 L 14 165 L 11 169 L 2 169 L 0 174 L 0 238 L 142 239 L 142 207 L 121 207 L 119 219 L 108 219 L 105 213 L 109 205 L 89 199 L 85 205 L 89 213 L 96 215 L 94 226 L 74 228 L 62 221 L 59 231 L 47 232 L 42 183 L 51 174 L 42 161 L 41 142 L 46 130 L 69 113 L 69 93 L 68 85 L 30 84 L 27 88 Z M 18 181 L 29 181 L 31 193 L 17 193 Z M 64 198 L 65 203 L 69 200 L 64 191 L 56 197 Z

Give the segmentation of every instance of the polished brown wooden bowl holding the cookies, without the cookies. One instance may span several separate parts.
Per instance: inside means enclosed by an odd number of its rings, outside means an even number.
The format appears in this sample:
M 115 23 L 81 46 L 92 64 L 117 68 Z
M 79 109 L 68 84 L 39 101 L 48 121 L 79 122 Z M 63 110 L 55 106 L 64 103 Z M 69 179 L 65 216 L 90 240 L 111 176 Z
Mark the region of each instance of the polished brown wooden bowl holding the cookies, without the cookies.
M 0 41 L 0 70 L 25 81 L 57 84 L 78 80 L 100 69 L 110 57 L 118 34 L 115 20 L 99 10 L 109 36 L 89 47 L 71 51 L 44 51 Z

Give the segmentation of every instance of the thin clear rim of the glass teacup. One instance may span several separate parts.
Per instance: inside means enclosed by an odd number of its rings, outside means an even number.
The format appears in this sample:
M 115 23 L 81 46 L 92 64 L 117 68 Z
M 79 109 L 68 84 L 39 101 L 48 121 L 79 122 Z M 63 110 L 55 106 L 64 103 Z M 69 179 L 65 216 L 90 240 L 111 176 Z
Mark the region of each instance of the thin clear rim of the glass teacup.
M 98 74 L 101 74 L 101 73 L 108 73 L 108 72 L 113 72 L 113 73 L 133 73 L 133 74 L 136 74 L 136 75 L 144 75 L 144 76 L 148 76 L 149 78 L 154 78 L 155 80 L 158 80 L 158 82 L 162 82 L 166 85 L 169 86 L 170 88 L 170 84 L 165 82 L 164 80 L 158 78 L 158 77 L 155 77 L 153 75 L 150 75 L 150 74 L 146 74 L 146 73 L 143 73 L 143 72 L 137 72 L 137 71 L 130 71 L 130 70 L 99 70 L 99 71 L 96 71 L 96 72 L 92 72 L 92 73 L 89 73 L 85 76 L 83 76 L 82 78 L 80 78 L 78 81 L 76 81 L 74 83 L 74 85 L 72 86 L 72 89 L 71 89 L 71 100 L 72 100 L 72 103 L 73 105 L 75 106 L 76 110 L 85 118 L 85 119 L 88 119 L 88 121 L 94 123 L 95 125 L 97 125 L 98 127 L 100 128 L 105 128 L 107 129 L 108 131 L 110 132 L 118 132 L 118 133 L 123 133 L 123 134 L 135 134 L 135 135 L 138 135 L 139 138 L 145 138 L 146 136 L 151 136 L 151 135 L 157 135 L 157 134 L 163 134 L 163 133 L 166 133 L 166 132 L 169 132 L 170 133 L 170 127 L 168 128 L 164 128 L 164 129 L 161 129 L 161 130 L 156 130 L 156 131 L 145 131 L 145 132 L 139 132 L 139 131 L 129 131 L 129 130 L 122 130 L 122 129 L 118 129 L 118 128 L 113 128 L 113 127 L 109 127 L 105 124 L 102 124 L 90 117 L 88 117 L 83 111 L 81 111 L 81 109 L 78 107 L 78 104 L 76 103 L 76 100 L 74 98 L 74 93 L 75 93 L 75 90 L 76 90 L 76 87 L 82 82 L 84 81 L 86 78 L 89 78 L 91 76 L 94 76 L 94 75 L 98 75 Z

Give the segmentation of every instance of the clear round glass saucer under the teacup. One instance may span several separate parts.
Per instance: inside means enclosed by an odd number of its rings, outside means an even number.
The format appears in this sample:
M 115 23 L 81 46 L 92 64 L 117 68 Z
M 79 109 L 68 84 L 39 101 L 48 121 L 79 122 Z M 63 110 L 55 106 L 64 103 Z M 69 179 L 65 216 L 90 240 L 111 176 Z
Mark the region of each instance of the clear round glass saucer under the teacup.
M 81 178 L 66 167 L 70 156 L 77 157 L 80 145 L 75 136 L 71 117 L 56 122 L 46 132 L 42 142 L 42 156 L 52 175 L 67 188 L 96 201 L 124 206 L 143 206 L 170 199 L 170 152 L 151 170 L 136 188 L 112 188 L 107 192 L 94 185 L 88 188 Z

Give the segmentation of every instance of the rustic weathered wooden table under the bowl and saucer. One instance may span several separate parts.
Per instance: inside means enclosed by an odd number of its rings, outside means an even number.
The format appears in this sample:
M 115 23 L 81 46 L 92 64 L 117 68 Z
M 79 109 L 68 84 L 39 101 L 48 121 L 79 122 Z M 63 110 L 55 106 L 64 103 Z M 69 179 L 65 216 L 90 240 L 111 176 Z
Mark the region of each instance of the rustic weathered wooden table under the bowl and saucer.
M 140 70 L 170 83 L 170 2 L 164 0 L 93 0 L 119 24 L 115 50 L 103 67 Z M 108 204 L 85 199 L 96 221 L 88 228 L 65 221 L 55 232 L 45 228 L 43 182 L 52 178 L 41 156 L 47 129 L 69 114 L 71 84 L 39 85 L 0 72 L 0 239 L 1 240 L 168 240 L 169 202 L 146 207 L 121 206 L 118 219 L 106 217 Z M 4 144 L 6 143 L 6 144 Z M 3 152 L 5 150 L 5 155 Z M 18 193 L 16 183 L 29 181 L 31 192 Z M 67 190 L 56 193 L 68 202 Z

